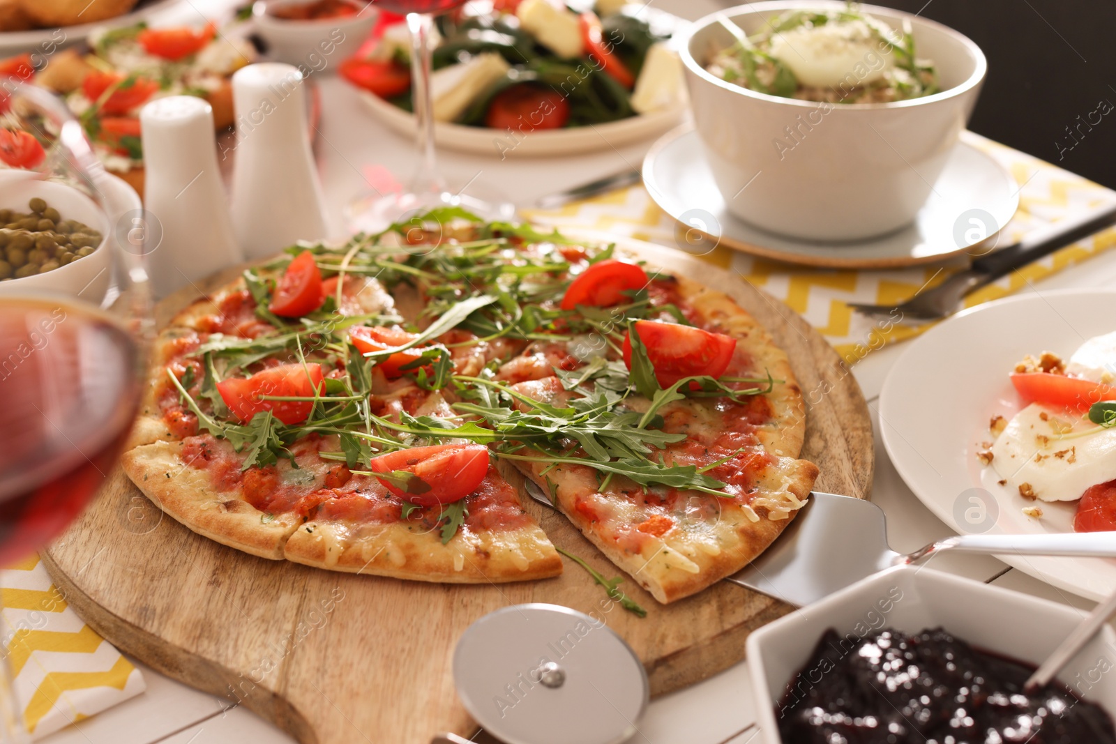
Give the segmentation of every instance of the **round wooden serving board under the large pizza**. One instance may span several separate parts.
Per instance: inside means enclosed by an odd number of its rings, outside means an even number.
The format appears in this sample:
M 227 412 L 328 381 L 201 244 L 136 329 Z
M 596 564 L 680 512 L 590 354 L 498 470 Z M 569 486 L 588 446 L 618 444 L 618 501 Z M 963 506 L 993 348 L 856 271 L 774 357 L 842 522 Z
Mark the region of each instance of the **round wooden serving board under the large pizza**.
M 728 292 L 768 328 L 790 356 L 807 399 L 802 457 L 820 467 L 817 490 L 867 497 L 867 406 L 821 336 L 728 271 L 677 251 L 620 242 L 655 265 Z M 235 272 L 202 289 L 230 276 Z M 191 290 L 164 300 L 160 321 L 195 296 Z M 523 505 L 555 544 L 605 576 L 619 573 L 564 516 L 527 496 Z M 78 615 L 122 650 L 315 744 L 429 744 L 440 732 L 472 734 L 475 724 L 458 699 L 451 669 L 465 628 L 520 602 L 552 602 L 600 617 L 605 597 L 570 561 L 556 579 L 458 586 L 254 558 L 165 516 L 118 470 L 44 562 Z M 647 618 L 614 606 L 603 619 L 643 660 L 653 695 L 740 661 L 748 635 L 791 610 L 727 582 L 665 607 L 631 579 L 622 588 L 648 610 Z

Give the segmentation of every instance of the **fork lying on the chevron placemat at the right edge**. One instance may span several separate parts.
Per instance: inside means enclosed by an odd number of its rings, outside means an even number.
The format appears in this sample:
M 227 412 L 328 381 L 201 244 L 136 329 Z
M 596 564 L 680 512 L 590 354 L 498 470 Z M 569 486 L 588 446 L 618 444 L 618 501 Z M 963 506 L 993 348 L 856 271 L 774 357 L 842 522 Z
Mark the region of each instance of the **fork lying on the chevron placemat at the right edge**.
M 1035 230 L 1017 243 L 973 259 L 964 271 L 952 274 L 937 287 L 920 292 L 906 302 L 894 306 L 860 302 L 848 305 L 857 312 L 867 316 L 895 318 L 897 315 L 907 320 L 941 320 L 955 312 L 961 300 L 970 292 L 1114 223 L 1116 223 L 1116 204 L 1100 212 L 1062 220 Z

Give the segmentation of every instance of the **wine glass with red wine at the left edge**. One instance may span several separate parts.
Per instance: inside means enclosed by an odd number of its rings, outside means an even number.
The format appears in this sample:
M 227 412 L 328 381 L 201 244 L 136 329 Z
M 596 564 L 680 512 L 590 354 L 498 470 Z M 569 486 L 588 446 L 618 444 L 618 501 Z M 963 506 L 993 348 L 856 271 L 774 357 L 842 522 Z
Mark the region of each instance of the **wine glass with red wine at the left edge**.
M 4 567 L 57 537 L 112 470 L 152 326 L 143 231 L 117 229 L 142 222 L 138 196 L 105 172 L 59 99 L 0 80 L 0 160 Z M 0 687 L 0 742 L 27 741 L 7 654 Z

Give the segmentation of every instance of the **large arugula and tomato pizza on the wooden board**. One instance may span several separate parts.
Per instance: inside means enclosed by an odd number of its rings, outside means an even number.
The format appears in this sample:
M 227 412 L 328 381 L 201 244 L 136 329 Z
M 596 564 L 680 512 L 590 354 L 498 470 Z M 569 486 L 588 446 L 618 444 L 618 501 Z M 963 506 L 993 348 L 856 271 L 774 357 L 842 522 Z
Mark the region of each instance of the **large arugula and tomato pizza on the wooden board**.
M 671 602 L 761 553 L 818 474 L 786 354 L 728 296 L 455 209 L 244 271 L 161 331 L 145 395 L 123 465 L 166 513 L 410 580 L 560 573 L 520 474 Z

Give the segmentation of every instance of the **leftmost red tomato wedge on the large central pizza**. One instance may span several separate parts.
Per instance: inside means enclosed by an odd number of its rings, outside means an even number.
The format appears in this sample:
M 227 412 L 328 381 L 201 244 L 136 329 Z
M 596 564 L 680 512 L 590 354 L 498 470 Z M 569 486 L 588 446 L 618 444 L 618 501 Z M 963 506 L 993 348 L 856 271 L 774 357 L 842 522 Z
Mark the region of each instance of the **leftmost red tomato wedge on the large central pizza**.
M 310 415 L 314 403 L 310 400 L 261 400 L 261 395 L 282 395 L 309 397 L 317 390 L 325 390 L 321 366 L 309 364 L 279 365 L 251 377 L 230 377 L 217 384 L 229 410 L 247 424 L 252 416 L 270 410 L 283 424 L 300 424 Z

